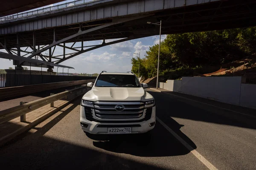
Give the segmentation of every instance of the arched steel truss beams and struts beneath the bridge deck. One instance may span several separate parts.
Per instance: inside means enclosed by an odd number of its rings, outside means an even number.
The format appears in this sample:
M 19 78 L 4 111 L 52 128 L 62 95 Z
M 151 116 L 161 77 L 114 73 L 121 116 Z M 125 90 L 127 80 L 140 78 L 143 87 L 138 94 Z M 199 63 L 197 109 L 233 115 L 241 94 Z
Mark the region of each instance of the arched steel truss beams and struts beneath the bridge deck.
M 97 30 L 104 29 L 104 28 L 108 28 L 108 27 L 114 26 L 116 24 L 125 23 L 125 22 L 128 22 L 128 21 L 137 20 L 137 19 L 140 19 L 140 18 L 148 17 L 148 16 L 150 16 L 150 15 L 139 16 L 139 17 L 130 17 L 130 18 L 121 18 L 121 19 L 115 20 L 115 21 L 113 21 L 111 23 L 101 24 L 99 26 L 96 26 L 94 28 L 89 28 L 89 29 L 84 30 L 84 31 L 81 31 L 82 27 L 80 26 L 78 32 L 76 32 L 75 34 L 73 34 L 73 35 L 71 35 L 69 37 L 65 37 L 65 38 L 63 38 L 61 40 L 57 40 L 56 39 L 56 32 L 54 30 L 54 32 L 53 32 L 53 34 L 54 34 L 53 35 L 54 36 L 53 40 L 54 41 L 52 42 L 52 44 L 47 45 L 47 46 L 46 45 L 42 45 L 41 47 L 40 47 L 40 45 L 38 45 L 38 49 L 36 48 L 36 34 L 35 34 L 35 31 L 32 34 L 33 35 L 33 37 L 32 37 L 33 43 L 29 43 L 28 40 L 26 40 L 26 38 L 21 37 L 19 34 L 17 34 L 17 49 L 15 48 L 15 49 L 10 49 L 9 51 L 7 51 L 8 48 L 6 48 L 6 44 L 3 45 L 2 43 L 0 43 L 0 45 L 3 48 L 7 49 L 6 51 L 9 54 L 12 54 L 13 51 L 17 51 L 17 53 L 15 53 L 15 54 L 17 54 L 17 56 L 20 57 L 20 53 L 22 52 L 22 53 L 25 53 L 23 56 L 26 56 L 26 55 L 30 54 L 29 57 L 27 57 L 28 59 L 31 59 L 32 57 L 38 56 L 38 57 L 41 57 L 41 59 L 44 62 L 46 62 L 46 60 L 48 60 L 49 62 L 47 62 L 47 63 L 55 63 L 55 65 L 57 65 L 58 63 L 61 63 L 61 62 L 65 61 L 65 60 L 67 60 L 67 59 L 70 59 L 70 58 L 75 57 L 75 56 L 77 56 L 79 54 L 85 53 L 87 51 L 91 51 L 91 50 L 94 50 L 94 49 L 97 49 L 97 48 L 101 48 L 101 47 L 104 47 L 106 45 L 111 45 L 111 44 L 115 44 L 115 43 L 119 43 L 119 42 L 124 42 L 124 41 L 127 41 L 127 40 L 132 40 L 132 39 L 136 39 L 136 38 L 142 37 L 142 35 L 138 35 L 138 37 L 137 36 L 135 37 L 133 35 L 133 36 L 130 36 L 128 38 L 123 38 L 121 40 L 115 40 L 115 41 L 107 42 L 107 43 L 105 42 L 105 38 L 102 37 L 104 39 L 102 44 L 100 44 L 100 45 L 87 45 L 87 46 L 84 46 L 84 40 L 81 40 L 81 38 L 79 39 L 79 36 L 82 36 L 84 34 L 88 34 L 90 32 L 97 31 Z M 87 36 L 92 36 L 92 38 L 93 38 L 93 35 L 87 35 Z M 28 44 L 28 46 L 26 46 L 25 50 L 20 49 L 20 38 L 22 40 L 24 40 Z M 66 46 L 65 43 L 67 41 L 70 41 L 71 39 L 75 40 L 73 42 L 73 44 L 71 45 L 71 47 Z M 38 41 L 40 41 L 40 40 L 38 40 Z M 73 47 L 76 44 L 76 42 L 78 42 L 78 41 L 79 42 L 81 41 L 81 46 L 80 47 Z M 54 53 L 55 48 L 56 48 L 57 45 L 63 48 L 63 55 L 53 56 L 53 53 Z M 32 51 L 29 51 L 28 50 L 29 48 L 31 48 Z M 70 50 L 73 50 L 74 52 L 66 54 L 66 51 L 65 51 L 66 48 L 70 49 Z M 84 48 L 87 48 L 87 49 L 84 49 Z M 43 55 L 42 52 L 44 52 L 44 51 L 46 51 L 48 49 L 49 49 L 49 56 L 48 55 Z M 61 57 L 61 56 L 63 56 L 63 57 Z M 61 58 L 59 58 L 59 57 L 61 57 Z M 47 59 L 47 58 L 49 58 L 49 59 Z M 52 59 L 55 59 L 55 60 L 52 61 Z M 25 63 L 25 62 L 27 62 L 27 61 L 15 60 L 14 64 L 21 66 L 21 65 L 26 65 L 27 63 Z M 40 62 L 42 62 L 42 61 L 40 61 Z M 47 66 L 47 65 L 45 65 L 45 66 Z M 50 66 L 50 64 L 47 67 L 49 67 L 49 66 Z

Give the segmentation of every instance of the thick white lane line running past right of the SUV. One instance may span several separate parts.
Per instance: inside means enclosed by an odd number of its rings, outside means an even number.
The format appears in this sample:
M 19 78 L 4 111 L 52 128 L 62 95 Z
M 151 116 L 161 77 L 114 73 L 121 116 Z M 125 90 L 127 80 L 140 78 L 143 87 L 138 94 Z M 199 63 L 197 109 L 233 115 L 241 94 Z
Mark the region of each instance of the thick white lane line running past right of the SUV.
M 158 117 L 156 117 L 157 121 L 160 122 L 163 127 L 165 127 L 172 135 L 180 141 L 191 153 L 197 157 L 205 166 L 209 168 L 209 170 L 218 170 L 215 166 L 213 166 L 207 159 L 205 159 L 200 153 L 198 153 L 192 146 L 190 146 L 187 142 L 185 142 L 180 136 L 177 135 L 170 127 L 168 127 L 164 122 L 162 122 Z

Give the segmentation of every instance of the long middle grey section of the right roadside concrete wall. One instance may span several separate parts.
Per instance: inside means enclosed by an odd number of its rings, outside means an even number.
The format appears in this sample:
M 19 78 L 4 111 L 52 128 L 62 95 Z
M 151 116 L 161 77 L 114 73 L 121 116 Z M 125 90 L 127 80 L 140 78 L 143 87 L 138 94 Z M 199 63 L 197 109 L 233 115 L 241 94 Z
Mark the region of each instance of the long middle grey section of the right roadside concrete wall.
M 182 77 L 182 93 L 239 105 L 241 77 Z

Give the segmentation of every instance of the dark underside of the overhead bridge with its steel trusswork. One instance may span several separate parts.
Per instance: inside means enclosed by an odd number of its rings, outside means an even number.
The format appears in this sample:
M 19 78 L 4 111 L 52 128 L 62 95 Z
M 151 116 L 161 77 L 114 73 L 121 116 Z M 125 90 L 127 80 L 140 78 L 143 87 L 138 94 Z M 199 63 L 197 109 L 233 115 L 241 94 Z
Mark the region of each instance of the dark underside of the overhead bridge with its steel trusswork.
M 203 9 L 203 10 L 202 10 Z M 60 63 L 84 52 L 126 40 L 159 34 L 159 26 L 147 24 L 162 20 L 162 34 L 176 34 L 195 31 L 211 31 L 256 25 L 255 0 L 223 0 L 202 5 L 172 8 L 139 17 L 129 15 L 113 19 L 96 20 L 87 23 L 60 26 L 38 31 L 27 31 L 20 35 L 0 36 L 0 48 L 11 54 L 19 54 L 18 48 L 28 47 L 30 58 L 38 56 L 49 62 Z M 83 42 L 93 40 L 120 39 L 114 42 L 85 47 Z M 72 42 L 67 46 L 65 43 Z M 80 46 L 75 45 L 77 42 Z M 54 56 L 55 47 L 63 48 L 63 55 Z M 43 51 L 49 49 L 49 56 Z M 73 52 L 67 54 L 66 49 Z M 16 51 L 16 52 L 15 52 Z M 24 51 L 22 51 L 24 52 Z M 15 63 L 19 65 L 21 63 Z M 23 62 L 22 65 L 26 65 Z

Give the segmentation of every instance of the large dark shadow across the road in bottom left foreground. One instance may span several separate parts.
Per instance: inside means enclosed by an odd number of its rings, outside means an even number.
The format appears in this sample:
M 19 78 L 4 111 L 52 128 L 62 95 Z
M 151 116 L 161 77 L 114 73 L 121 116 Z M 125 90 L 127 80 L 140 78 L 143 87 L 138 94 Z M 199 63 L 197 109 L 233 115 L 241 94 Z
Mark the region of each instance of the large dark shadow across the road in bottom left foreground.
M 77 144 L 49 136 L 31 136 L 1 148 L 0 164 L 6 167 L 3 169 L 163 170 L 151 162 L 103 153 L 81 140 Z

